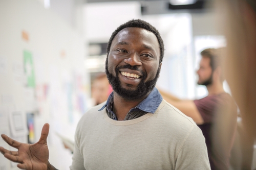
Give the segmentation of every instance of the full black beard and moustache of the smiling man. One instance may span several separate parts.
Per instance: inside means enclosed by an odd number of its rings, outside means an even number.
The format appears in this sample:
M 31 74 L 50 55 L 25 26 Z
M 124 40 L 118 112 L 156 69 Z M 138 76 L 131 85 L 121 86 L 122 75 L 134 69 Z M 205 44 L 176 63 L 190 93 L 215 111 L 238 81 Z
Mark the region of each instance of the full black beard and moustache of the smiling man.
M 140 78 L 141 81 L 137 86 L 137 89 L 131 90 L 131 89 L 125 89 L 121 87 L 121 82 L 118 78 L 118 73 L 121 68 L 129 68 L 133 70 L 140 71 L 142 77 Z M 116 67 L 115 72 L 116 72 L 116 77 L 109 72 L 108 69 L 108 58 L 106 58 L 105 62 L 105 72 L 106 72 L 106 77 L 108 77 L 109 83 L 111 84 L 113 90 L 120 95 L 122 98 L 127 99 L 127 100 L 136 100 L 136 99 L 141 99 L 144 96 L 146 96 L 148 93 L 150 93 L 154 87 L 156 86 L 157 79 L 159 78 L 159 73 L 160 73 L 160 67 L 158 67 L 157 74 L 153 80 L 149 80 L 145 82 L 145 79 L 147 77 L 147 74 L 138 69 L 137 66 L 131 66 L 131 65 L 123 65 Z

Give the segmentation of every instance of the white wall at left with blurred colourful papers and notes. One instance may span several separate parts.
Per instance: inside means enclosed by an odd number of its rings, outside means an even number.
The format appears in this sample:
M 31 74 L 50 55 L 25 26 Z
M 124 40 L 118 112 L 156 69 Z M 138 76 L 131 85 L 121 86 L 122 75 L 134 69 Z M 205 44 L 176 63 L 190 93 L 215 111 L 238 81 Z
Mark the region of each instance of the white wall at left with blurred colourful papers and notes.
M 0 133 L 35 142 L 50 123 L 50 162 L 59 169 L 69 169 L 72 154 L 56 132 L 73 140 L 88 108 L 84 56 L 84 37 L 51 9 L 0 1 Z M 0 145 L 11 149 L 2 139 Z M 0 155 L 1 170 L 15 166 Z

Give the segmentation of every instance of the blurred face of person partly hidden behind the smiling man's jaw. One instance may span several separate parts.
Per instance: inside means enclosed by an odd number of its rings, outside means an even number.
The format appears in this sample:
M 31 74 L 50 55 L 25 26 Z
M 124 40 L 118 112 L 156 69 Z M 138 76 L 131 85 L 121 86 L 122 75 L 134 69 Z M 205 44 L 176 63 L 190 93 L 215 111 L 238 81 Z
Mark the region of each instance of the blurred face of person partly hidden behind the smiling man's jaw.
M 96 76 L 92 81 L 92 99 L 94 106 L 105 102 L 112 92 L 112 87 L 109 84 L 109 80 L 105 73 L 101 73 Z

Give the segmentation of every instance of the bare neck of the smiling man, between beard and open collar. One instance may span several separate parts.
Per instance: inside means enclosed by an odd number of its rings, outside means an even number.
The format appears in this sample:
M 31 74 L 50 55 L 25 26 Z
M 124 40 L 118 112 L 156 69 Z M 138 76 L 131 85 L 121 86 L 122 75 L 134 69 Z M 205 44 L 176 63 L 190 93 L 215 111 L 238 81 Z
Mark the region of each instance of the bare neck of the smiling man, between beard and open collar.
M 147 94 L 148 95 L 148 94 Z M 138 106 L 140 102 L 142 102 L 146 97 L 144 96 L 141 99 L 136 100 L 127 100 L 122 98 L 114 91 L 114 103 L 113 103 L 113 111 L 117 116 L 118 120 L 124 120 L 126 114 L 134 107 Z

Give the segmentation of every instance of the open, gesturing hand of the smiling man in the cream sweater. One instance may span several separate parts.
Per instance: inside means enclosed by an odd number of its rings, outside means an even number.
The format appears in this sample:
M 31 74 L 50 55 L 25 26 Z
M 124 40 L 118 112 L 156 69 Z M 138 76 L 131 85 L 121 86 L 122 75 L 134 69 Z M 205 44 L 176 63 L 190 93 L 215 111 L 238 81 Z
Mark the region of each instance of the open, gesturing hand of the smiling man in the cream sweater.
M 20 169 L 54 170 L 49 163 L 49 150 L 47 146 L 47 136 L 49 134 L 49 124 L 42 127 L 41 136 L 34 144 L 20 143 L 2 134 L 2 138 L 18 151 L 9 151 L 0 147 L 0 152 L 9 160 L 18 163 Z

